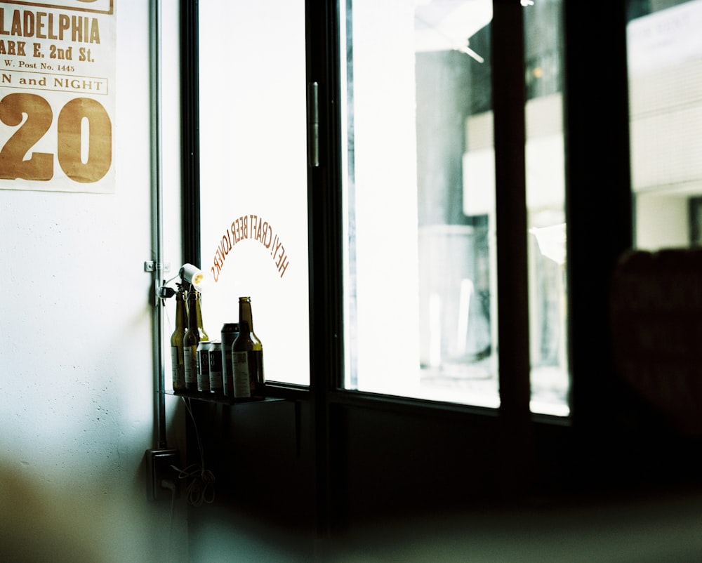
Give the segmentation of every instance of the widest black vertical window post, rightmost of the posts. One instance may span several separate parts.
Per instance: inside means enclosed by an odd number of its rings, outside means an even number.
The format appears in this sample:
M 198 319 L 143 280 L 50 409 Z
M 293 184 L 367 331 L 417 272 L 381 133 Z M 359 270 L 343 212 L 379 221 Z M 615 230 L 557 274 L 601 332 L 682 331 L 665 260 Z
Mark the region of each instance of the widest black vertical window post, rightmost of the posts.
M 625 4 L 564 2 L 571 404 L 576 435 L 597 438 L 598 459 L 617 408 L 609 284 L 632 244 Z M 595 459 L 579 451 L 581 462 Z

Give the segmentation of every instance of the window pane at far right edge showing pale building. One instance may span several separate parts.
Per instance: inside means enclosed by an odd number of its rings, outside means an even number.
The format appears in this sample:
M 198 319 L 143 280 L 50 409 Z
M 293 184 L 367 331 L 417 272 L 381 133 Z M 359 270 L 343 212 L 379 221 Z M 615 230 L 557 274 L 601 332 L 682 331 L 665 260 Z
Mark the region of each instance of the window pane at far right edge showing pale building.
M 638 0 L 628 8 L 635 244 L 700 244 L 702 1 Z

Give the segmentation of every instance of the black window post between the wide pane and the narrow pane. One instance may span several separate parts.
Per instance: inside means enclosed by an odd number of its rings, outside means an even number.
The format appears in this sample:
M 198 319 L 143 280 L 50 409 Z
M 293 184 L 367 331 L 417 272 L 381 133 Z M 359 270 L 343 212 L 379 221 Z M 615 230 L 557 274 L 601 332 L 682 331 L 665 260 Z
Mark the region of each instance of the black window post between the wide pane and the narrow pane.
M 492 21 L 498 343 L 503 452 L 521 466 L 531 448 L 524 124 L 524 28 L 517 0 L 495 0 Z M 520 470 L 521 472 L 521 470 Z M 505 483 L 516 484 L 513 475 Z

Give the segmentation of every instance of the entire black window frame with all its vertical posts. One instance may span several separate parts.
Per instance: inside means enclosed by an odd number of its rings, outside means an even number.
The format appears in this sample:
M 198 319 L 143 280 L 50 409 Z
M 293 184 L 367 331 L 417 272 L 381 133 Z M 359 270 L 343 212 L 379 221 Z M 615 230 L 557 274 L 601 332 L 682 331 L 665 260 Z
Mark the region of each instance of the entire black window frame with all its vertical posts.
M 500 241 L 498 410 L 343 390 L 343 131 L 338 25 L 344 17 L 340 17 L 334 0 L 306 2 L 305 84 L 319 85 L 320 143 L 320 165 L 309 168 L 307 180 L 310 385 L 270 385 L 270 392 L 310 408 L 314 503 L 321 533 L 353 511 L 349 493 L 349 483 L 355 478 L 349 475 L 352 425 L 364 417 L 395 417 L 397 428 L 407 436 L 427 420 L 438 421 L 437 429 L 486 429 L 491 437 L 497 437 L 494 449 L 485 453 L 494 456 L 495 488 L 506 494 L 531 489 L 543 475 L 558 474 L 557 479 L 569 483 L 596 482 L 596 475 L 585 475 L 578 468 L 593 454 L 593 460 L 601 461 L 603 452 L 616 449 L 616 433 L 611 430 L 616 424 L 618 392 L 608 332 L 608 292 L 616 260 L 632 244 L 626 4 L 625 0 L 564 2 L 563 8 L 572 380 L 571 416 L 562 418 L 529 410 L 524 40 L 519 0 L 494 0 L 491 32 Z M 197 0 L 180 0 L 180 14 L 184 258 L 197 264 L 201 258 Z M 592 40 L 592 29 L 598 30 L 597 41 Z M 595 221 L 597 229 L 592 228 Z M 442 439 L 447 444 L 442 453 L 461 443 L 461 437 Z M 552 452 L 556 443 L 565 446 L 559 450 L 560 458 Z M 554 464 L 558 468 L 554 469 Z M 600 469 L 597 475 L 607 479 L 607 470 Z

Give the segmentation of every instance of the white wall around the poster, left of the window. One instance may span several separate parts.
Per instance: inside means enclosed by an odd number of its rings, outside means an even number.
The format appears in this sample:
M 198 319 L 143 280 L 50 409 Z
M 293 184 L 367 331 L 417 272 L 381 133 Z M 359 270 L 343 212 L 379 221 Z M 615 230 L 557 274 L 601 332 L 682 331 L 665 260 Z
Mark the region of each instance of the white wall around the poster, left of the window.
M 154 446 L 149 2 L 118 0 L 117 184 L 114 194 L 0 190 L 0 559 L 166 560 L 171 503 L 147 501 L 144 452 Z M 168 10 L 177 3 L 164 2 Z M 171 6 L 172 4 L 172 6 Z M 166 81 L 174 79 L 175 13 L 164 14 Z M 169 88 L 178 92 L 177 86 Z M 171 95 L 171 94 L 169 94 Z M 177 110 L 168 99 L 167 112 Z M 177 145 L 177 119 L 165 137 Z M 169 149 L 164 183 L 177 192 Z M 168 194 L 169 196 L 171 194 Z M 166 206 L 167 259 L 179 202 Z M 176 233 L 173 237 L 173 233 Z M 178 263 L 178 264 L 176 264 Z M 169 446 L 183 419 L 167 397 Z M 177 420 L 176 428 L 173 421 Z M 182 451 L 182 450 L 181 450 Z M 176 504 L 171 560 L 185 560 Z M 98 555 L 79 557 L 67 545 Z

